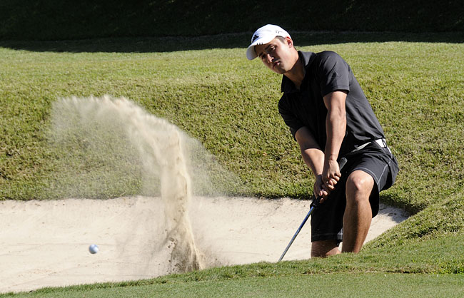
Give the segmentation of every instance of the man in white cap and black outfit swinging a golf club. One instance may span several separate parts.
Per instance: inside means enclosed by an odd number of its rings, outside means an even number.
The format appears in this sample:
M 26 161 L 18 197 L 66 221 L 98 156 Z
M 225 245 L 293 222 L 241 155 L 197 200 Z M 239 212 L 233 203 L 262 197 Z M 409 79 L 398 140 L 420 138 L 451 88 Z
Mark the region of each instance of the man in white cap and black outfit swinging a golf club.
M 315 175 L 321 205 L 311 217 L 311 256 L 359 252 L 380 190 L 395 181 L 398 163 L 348 63 L 331 51 L 297 51 L 287 31 L 266 25 L 246 56 L 283 75 L 278 110 Z M 341 171 L 338 160 L 348 162 Z

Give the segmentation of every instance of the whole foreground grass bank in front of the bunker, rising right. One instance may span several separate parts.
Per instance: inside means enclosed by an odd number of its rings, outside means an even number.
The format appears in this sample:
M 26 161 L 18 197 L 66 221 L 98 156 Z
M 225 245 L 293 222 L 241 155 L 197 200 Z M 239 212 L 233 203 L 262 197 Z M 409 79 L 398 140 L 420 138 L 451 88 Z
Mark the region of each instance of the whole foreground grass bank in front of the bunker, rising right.
M 221 267 L 4 297 L 461 297 L 463 253 L 464 236 L 459 235 L 358 255 Z

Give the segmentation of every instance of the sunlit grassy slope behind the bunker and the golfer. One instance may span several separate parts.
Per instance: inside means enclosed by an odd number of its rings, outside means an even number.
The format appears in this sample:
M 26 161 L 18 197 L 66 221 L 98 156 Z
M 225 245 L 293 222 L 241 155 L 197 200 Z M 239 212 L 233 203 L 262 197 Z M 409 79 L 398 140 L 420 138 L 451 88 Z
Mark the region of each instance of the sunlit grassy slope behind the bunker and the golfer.
M 304 45 L 317 38 L 321 36 L 296 40 Z M 350 35 L 338 38 L 343 42 Z M 248 193 L 306 197 L 310 192 L 308 171 L 276 111 L 280 78 L 263 71 L 258 61 L 246 61 L 243 49 L 124 53 L 124 46 L 131 49 L 128 40 L 100 42 L 121 52 L 54 52 L 60 43 L 51 52 L 2 50 L 1 198 L 61 195 L 49 191 L 56 178 L 50 162 L 56 157 L 45 139 L 51 103 L 61 96 L 106 93 L 131 98 L 186 130 L 240 176 Z M 383 200 L 418 212 L 460 190 L 462 44 L 338 43 L 301 48 L 341 53 L 370 98 L 402 167 L 398 183 Z M 114 195 L 121 193 L 106 194 Z

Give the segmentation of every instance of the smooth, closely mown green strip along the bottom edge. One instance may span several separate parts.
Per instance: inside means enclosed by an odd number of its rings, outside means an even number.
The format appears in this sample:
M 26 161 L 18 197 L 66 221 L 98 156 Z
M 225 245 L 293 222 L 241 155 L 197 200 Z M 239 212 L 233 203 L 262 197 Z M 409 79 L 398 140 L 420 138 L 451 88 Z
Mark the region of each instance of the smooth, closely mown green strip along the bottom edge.
M 381 287 L 373 287 L 381 284 Z M 298 277 L 246 277 L 104 289 L 40 292 L 37 297 L 462 297 L 457 274 L 333 273 Z M 33 297 L 34 295 L 24 295 Z M 21 295 L 14 296 L 21 297 Z

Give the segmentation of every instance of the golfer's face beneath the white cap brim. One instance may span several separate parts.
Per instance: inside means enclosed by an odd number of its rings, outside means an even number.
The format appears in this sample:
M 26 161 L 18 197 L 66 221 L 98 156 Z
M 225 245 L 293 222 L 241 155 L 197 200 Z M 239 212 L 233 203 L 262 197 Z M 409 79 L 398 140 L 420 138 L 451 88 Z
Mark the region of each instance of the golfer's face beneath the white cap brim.
M 290 38 L 281 41 L 279 38 L 274 38 L 271 42 L 255 46 L 255 51 L 258 58 L 263 61 L 264 65 L 268 66 L 271 71 L 284 74 L 290 71 L 295 64 L 295 53 L 293 51 L 293 42 Z M 298 59 L 298 56 L 296 57 Z

